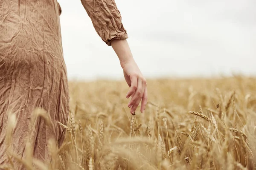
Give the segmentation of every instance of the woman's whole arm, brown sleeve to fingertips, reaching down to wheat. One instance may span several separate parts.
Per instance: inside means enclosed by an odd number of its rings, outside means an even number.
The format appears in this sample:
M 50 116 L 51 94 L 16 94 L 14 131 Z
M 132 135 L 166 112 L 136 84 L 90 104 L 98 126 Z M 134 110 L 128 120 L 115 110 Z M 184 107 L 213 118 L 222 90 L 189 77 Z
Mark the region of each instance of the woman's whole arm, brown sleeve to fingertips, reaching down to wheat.
M 112 46 L 119 57 L 125 80 L 130 87 L 126 97 L 131 96 L 128 103 L 131 113 L 135 112 L 141 100 L 140 111 L 144 112 L 147 103 L 146 80 L 132 57 L 126 41 L 128 35 L 122 25 L 122 17 L 115 0 L 81 0 L 81 3 L 92 20 L 96 32 L 107 45 Z

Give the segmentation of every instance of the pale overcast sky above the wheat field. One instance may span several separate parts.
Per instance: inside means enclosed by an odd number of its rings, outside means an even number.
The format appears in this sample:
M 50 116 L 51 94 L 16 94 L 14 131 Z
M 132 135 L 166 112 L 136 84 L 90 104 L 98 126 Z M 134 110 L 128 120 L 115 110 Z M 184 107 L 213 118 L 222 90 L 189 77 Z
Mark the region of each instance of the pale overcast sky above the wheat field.
M 80 0 L 58 0 L 68 78 L 119 79 L 122 68 Z M 255 0 L 116 0 L 146 78 L 256 75 Z

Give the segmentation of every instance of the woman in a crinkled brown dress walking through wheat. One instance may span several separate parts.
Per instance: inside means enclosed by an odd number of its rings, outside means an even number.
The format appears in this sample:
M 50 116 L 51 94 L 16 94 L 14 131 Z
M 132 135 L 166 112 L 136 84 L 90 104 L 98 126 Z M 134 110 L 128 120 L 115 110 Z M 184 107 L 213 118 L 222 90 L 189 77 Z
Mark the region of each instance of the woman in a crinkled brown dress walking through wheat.
M 71 1 L 70 1 L 71 3 Z M 147 102 L 146 81 L 134 61 L 126 30 L 114 0 L 81 0 L 102 40 L 119 58 L 130 89 L 128 107 L 133 114 Z M 12 134 L 12 150 L 24 156 L 27 137 L 36 159 L 47 160 L 47 140 L 54 137 L 60 146 L 64 133 L 56 121 L 67 124 L 69 91 L 63 59 L 59 15 L 56 0 L 0 0 L 0 164 L 6 156 L 8 111 L 15 113 L 17 124 Z M 29 121 L 35 108 L 43 108 L 52 119 L 50 130 L 38 118 L 29 134 Z M 22 167 L 17 167 L 22 169 Z

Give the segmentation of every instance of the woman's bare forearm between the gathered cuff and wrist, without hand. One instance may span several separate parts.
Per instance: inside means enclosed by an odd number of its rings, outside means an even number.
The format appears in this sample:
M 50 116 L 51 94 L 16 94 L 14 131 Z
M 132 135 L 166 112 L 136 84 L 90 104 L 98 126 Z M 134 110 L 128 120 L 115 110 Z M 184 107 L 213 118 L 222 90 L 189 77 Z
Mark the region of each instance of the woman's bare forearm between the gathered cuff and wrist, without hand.
M 127 40 L 113 40 L 111 42 L 111 46 L 116 52 L 122 68 L 124 67 L 125 63 L 134 60 Z

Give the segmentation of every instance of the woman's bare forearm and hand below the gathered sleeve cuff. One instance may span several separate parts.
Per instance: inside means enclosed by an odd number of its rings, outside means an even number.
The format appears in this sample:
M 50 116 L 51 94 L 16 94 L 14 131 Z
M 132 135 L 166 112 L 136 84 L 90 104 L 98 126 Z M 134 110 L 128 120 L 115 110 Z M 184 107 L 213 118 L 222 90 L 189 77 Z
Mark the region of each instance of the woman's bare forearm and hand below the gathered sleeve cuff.
M 140 111 L 143 113 L 148 99 L 147 83 L 132 57 L 128 42 L 127 40 L 113 40 L 111 46 L 119 57 L 125 81 L 130 87 L 126 94 L 126 98 L 131 96 L 128 107 L 131 108 L 131 113 L 134 114 L 141 101 Z

